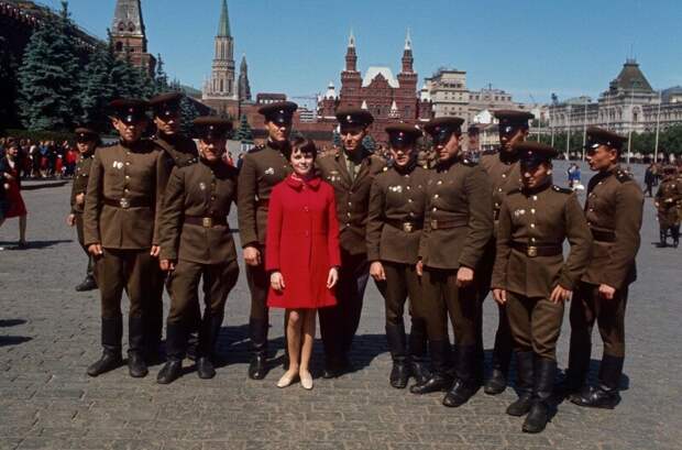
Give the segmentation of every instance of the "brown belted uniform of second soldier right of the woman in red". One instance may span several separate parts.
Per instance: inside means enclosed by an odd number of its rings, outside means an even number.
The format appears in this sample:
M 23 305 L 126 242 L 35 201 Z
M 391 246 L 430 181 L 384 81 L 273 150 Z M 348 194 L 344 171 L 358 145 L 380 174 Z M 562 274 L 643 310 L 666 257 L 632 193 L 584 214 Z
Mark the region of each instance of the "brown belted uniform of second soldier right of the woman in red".
M 376 283 L 385 300 L 386 338 L 394 361 L 420 364 L 426 355 L 426 320 L 421 285 L 416 272 L 419 237 L 424 228 L 429 172 L 411 163 L 393 166 L 374 178 L 367 211 L 367 260 L 380 261 L 385 281 Z M 409 345 L 403 315 L 409 297 Z

